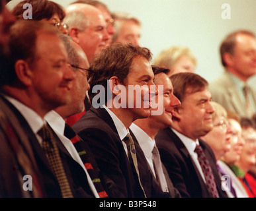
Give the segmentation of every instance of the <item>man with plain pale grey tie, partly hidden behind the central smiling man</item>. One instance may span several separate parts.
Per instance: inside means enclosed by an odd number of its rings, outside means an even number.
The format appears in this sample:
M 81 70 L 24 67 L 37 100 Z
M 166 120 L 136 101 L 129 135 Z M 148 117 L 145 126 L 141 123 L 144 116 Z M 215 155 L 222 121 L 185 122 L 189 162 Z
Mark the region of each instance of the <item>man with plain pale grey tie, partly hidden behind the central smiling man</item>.
M 181 102 L 173 95 L 173 85 L 171 79 L 167 76 L 169 69 L 157 66 L 152 66 L 152 69 L 155 75 L 153 80 L 155 85 L 163 86 L 163 90 L 161 92 L 159 91 L 155 99 L 158 107 L 152 109 L 152 111 L 159 111 L 159 113 L 153 113 L 153 115 L 145 119 L 137 119 L 129 129 L 134 134 L 134 141 L 140 144 L 149 169 L 157 180 L 157 183 L 163 191 L 168 191 L 171 197 L 175 198 L 180 197 L 179 191 L 173 187 L 173 183 L 165 167 L 163 165 L 159 166 L 161 164 L 161 158 L 155 155 L 157 153 L 155 135 L 157 135 L 158 131 L 171 125 L 171 113 L 174 107 L 181 105 Z M 163 109 L 160 109 L 160 107 Z

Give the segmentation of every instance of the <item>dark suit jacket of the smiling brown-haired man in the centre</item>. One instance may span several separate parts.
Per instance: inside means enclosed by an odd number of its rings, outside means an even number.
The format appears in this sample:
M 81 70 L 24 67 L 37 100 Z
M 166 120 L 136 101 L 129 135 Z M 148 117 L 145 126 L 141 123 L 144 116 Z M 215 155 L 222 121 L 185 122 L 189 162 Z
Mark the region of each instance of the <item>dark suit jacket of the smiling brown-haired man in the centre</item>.
M 89 144 L 99 168 L 116 185 L 119 191 L 116 197 L 144 197 L 138 177 L 132 171 L 122 140 L 106 109 L 91 107 L 73 125 L 73 129 Z M 146 160 L 141 156 L 137 156 L 137 159 L 140 179 L 147 197 L 169 196 L 163 193 L 156 183 L 152 183 L 151 173 L 148 167 L 145 167 Z

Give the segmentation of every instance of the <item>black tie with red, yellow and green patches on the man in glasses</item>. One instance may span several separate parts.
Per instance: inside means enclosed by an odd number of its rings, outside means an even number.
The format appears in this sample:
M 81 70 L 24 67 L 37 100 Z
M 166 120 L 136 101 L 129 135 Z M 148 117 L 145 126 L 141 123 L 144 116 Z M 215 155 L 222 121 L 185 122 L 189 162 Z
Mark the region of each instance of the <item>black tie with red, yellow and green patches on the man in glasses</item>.
M 97 172 L 97 164 L 95 160 L 92 158 L 91 151 L 89 150 L 89 146 L 84 140 L 81 140 L 79 136 L 76 135 L 75 131 L 73 129 L 65 124 L 65 131 L 64 135 L 71 140 L 73 145 L 75 146 L 75 149 L 77 150 L 83 165 L 87 169 L 91 180 L 93 181 L 93 185 L 95 185 L 95 189 L 97 190 L 97 193 L 99 194 L 100 198 L 106 198 L 108 197 L 105 189 L 103 188 L 103 185 L 101 183 L 101 179 L 99 179 L 99 173 Z

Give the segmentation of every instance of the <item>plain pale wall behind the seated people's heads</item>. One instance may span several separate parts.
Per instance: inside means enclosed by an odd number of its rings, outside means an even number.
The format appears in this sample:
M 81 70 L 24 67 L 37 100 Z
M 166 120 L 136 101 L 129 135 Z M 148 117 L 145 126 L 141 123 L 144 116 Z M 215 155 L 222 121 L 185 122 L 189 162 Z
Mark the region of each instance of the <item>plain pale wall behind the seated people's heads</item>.
M 15 5 L 13 0 L 9 8 Z M 73 0 L 53 0 L 63 7 Z M 171 45 L 187 45 L 196 56 L 196 73 L 209 82 L 221 75 L 218 53 L 226 34 L 237 29 L 256 34 L 256 0 L 101 0 L 110 11 L 131 13 L 142 22 L 141 45 L 153 58 Z M 230 5 L 230 19 L 223 19 L 222 5 Z M 256 76 L 250 83 L 256 86 Z

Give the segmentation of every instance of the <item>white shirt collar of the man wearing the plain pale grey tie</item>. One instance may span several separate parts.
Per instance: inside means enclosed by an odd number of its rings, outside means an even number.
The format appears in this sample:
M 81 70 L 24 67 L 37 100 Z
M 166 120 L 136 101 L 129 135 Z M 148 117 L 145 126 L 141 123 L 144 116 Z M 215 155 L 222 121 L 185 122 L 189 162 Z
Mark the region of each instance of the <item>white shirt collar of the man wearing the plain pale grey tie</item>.
M 155 146 L 155 140 L 149 137 L 149 135 L 142 130 L 138 125 L 132 123 L 130 129 L 136 139 L 138 140 L 142 151 L 144 152 L 147 158 L 151 158 L 153 147 Z

